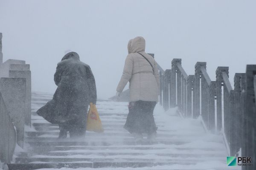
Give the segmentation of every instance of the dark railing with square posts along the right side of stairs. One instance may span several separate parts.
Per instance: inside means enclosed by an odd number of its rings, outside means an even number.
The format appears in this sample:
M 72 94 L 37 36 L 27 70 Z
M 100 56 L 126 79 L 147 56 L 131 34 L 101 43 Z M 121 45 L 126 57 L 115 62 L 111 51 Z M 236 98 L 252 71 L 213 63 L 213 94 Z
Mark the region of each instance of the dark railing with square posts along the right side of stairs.
M 181 59 L 172 60 L 172 69 L 163 71 L 160 66 L 158 68 L 160 104 L 165 110 L 177 106 L 185 117 L 201 116 L 208 130 L 224 133 L 230 155 L 236 155 L 240 148 L 244 150 L 244 156 L 256 154 L 256 65 L 247 65 L 246 74 L 235 74 L 234 89 L 228 67 L 217 68 L 216 81 L 210 79 L 206 62 L 195 64 L 194 75 L 186 74 Z M 249 150 L 254 153 L 249 154 Z

